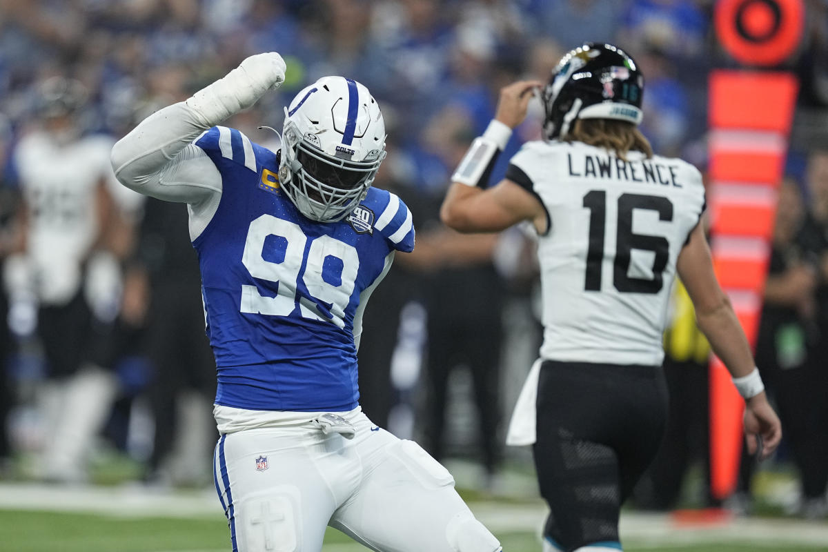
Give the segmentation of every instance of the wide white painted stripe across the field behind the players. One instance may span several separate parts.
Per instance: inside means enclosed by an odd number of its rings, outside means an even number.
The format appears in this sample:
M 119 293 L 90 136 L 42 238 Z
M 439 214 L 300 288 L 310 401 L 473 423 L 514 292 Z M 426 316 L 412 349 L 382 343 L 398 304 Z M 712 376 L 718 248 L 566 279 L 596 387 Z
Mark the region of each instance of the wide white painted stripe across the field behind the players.
M 470 502 L 484 526 L 495 533 L 539 534 L 546 517 L 542 502 Z M 212 489 L 178 491 L 137 485 L 123 487 L 55 487 L 38 483 L 0 483 L 0 510 L 67 511 L 116 517 L 185 517 L 223 519 Z M 699 545 L 709 542 L 744 544 L 758 549 L 784 545 L 821 546 L 828 550 L 828 523 L 792 519 L 727 518 L 715 523 L 676 522 L 667 514 L 623 511 L 621 538 L 646 548 Z M 364 550 L 359 545 L 326 545 L 325 552 Z M 189 552 L 223 552 L 191 550 Z M 178 551 L 181 552 L 181 551 Z

